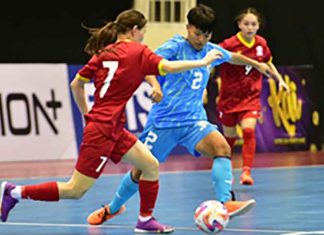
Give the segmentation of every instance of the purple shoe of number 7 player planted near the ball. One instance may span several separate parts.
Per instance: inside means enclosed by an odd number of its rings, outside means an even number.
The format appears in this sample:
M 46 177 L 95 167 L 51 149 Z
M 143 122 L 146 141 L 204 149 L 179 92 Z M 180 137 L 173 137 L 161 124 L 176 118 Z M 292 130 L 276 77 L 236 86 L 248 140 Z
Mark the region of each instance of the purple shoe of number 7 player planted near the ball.
M 174 228 L 169 225 L 160 224 L 154 217 L 148 221 L 137 221 L 135 233 L 172 233 Z

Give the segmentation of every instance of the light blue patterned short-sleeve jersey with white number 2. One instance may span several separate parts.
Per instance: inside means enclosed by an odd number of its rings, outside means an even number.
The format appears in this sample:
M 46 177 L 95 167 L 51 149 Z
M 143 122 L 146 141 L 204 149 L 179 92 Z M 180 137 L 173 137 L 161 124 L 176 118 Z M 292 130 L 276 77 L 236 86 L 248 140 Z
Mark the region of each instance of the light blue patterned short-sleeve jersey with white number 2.
M 170 128 L 191 125 L 197 120 L 207 120 L 202 95 L 209 80 L 210 70 L 230 60 L 231 53 L 210 42 L 197 51 L 180 35 L 175 35 L 156 50 L 163 58 L 177 61 L 200 60 L 212 49 L 221 51 L 223 58 L 213 61 L 210 66 L 158 77 L 163 99 L 153 105 L 148 123 L 153 123 L 158 128 Z

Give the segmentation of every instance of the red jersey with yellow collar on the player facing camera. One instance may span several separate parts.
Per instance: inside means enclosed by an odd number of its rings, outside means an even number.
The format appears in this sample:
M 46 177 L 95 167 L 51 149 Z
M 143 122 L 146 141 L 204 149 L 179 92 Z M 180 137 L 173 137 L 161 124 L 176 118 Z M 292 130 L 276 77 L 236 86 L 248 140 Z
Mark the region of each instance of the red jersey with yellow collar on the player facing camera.
M 271 51 L 266 40 L 256 35 L 255 39 L 248 43 L 240 33 L 225 39 L 219 44 L 221 47 L 241 53 L 259 62 L 271 61 Z M 234 113 L 245 110 L 260 110 L 260 95 L 263 75 L 251 66 L 240 66 L 224 63 L 219 67 L 221 88 L 218 111 L 222 113 Z

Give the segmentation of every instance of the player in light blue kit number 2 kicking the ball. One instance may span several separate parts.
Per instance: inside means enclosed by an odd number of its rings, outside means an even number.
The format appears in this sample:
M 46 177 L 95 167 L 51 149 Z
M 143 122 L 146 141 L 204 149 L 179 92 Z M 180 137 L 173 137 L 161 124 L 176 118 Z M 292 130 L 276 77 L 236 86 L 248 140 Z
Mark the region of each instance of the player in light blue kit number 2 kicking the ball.
M 217 49 L 223 57 L 209 67 L 187 72 L 168 74 L 164 77 L 147 77 L 153 90 L 162 89 L 163 99 L 155 103 L 149 112 L 144 131 L 139 139 L 160 161 L 167 160 L 177 145 L 182 145 L 194 156 L 213 158 L 212 182 L 215 198 L 226 206 L 230 217 L 241 215 L 255 205 L 255 200 L 233 201 L 231 149 L 217 126 L 207 121 L 202 96 L 209 80 L 210 70 L 228 62 L 250 65 L 263 74 L 274 75 L 266 64 L 259 63 L 237 53 L 231 53 L 209 42 L 214 24 L 214 11 L 199 5 L 188 15 L 187 37 L 176 35 L 160 46 L 156 53 L 168 60 L 195 60 L 203 58 L 211 49 Z M 157 100 L 159 101 L 159 100 Z M 141 172 L 133 169 L 122 182 L 109 205 L 97 209 L 88 216 L 88 223 L 102 224 L 125 210 L 124 203 L 138 191 Z

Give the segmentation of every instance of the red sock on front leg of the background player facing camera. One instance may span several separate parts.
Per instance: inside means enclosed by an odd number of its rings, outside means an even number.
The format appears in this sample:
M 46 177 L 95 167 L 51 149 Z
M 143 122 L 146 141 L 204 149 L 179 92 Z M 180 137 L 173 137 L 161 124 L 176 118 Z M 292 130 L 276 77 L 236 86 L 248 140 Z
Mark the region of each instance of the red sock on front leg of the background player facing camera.
M 256 140 L 253 128 L 243 129 L 243 167 L 252 167 L 256 148 Z

